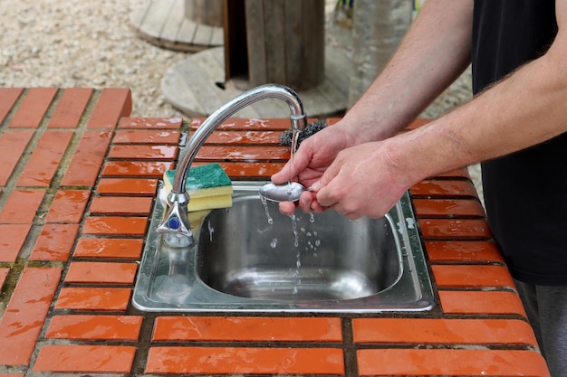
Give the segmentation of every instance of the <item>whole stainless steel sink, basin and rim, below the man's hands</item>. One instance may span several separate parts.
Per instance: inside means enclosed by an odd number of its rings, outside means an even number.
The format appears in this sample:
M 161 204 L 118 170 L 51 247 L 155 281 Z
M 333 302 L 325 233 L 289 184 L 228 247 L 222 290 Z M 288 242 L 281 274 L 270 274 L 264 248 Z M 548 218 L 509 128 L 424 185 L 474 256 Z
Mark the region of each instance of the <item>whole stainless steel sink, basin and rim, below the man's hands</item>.
M 169 248 L 156 201 L 134 289 L 146 311 L 428 310 L 434 295 L 408 193 L 380 219 L 282 215 L 264 183 L 235 183 L 232 208 L 191 213 L 196 245 Z

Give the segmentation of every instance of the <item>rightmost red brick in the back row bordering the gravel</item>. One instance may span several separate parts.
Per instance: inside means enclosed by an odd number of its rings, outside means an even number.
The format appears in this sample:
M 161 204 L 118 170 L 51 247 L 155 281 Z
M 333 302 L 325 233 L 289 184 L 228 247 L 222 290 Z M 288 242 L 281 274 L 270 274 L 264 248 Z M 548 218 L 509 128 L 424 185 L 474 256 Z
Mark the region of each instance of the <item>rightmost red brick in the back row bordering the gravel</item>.
M 132 94 L 129 89 L 105 88 L 92 110 L 88 128 L 115 128 L 121 117 L 130 116 Z

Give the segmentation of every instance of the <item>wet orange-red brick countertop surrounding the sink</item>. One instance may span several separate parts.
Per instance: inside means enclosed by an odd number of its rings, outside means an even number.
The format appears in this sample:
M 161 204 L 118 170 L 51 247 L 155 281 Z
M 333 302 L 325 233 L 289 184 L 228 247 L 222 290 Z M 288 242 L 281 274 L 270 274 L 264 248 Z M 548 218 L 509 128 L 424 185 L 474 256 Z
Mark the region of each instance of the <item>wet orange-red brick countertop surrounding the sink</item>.
M 203 119 L 130 110 L 125 89 L 0 89 L 0 376 L 549 375 L 466 169 L 411 189 L 436 287 L 431 311 L 137 311 L 130 299 L 158 180 Z M 197 160 L 219 161 L 233 179 L 267 179 L 289 157 L 277 144 L 288 127 L 229 119 Z

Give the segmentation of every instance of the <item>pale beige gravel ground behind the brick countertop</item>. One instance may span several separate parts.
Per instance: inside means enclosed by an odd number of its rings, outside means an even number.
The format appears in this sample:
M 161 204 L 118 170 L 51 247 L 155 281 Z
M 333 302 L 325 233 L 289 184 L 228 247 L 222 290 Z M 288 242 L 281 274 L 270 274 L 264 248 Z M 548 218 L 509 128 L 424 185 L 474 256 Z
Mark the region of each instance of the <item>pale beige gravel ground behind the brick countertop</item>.
M 130 13 L 146 0 L 0 0 L 0 87 L 128 87 L 134 117 L 182 117 L 160 90 L 168 67 L 186 57 L 142 41 Z M 327 0 L 332 20 L 334 0 Z M 330 21 L 329 21 L 330 22 Z M 348 51 L 348 41 L 327 42 Z M 470 98 L 470 71 L 424 113 L 435 118 Z M 471 174 L 480 189 L 479 169 Z

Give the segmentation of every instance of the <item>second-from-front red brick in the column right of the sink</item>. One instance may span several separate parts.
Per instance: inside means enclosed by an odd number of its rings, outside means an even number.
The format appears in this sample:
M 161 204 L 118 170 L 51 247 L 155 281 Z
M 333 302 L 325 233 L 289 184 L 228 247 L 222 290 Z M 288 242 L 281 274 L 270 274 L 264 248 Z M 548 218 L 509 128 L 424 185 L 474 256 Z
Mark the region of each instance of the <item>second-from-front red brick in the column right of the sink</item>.
M 502 266 L 431 266 L 438 287 L 509 287 L 514 281 Z

